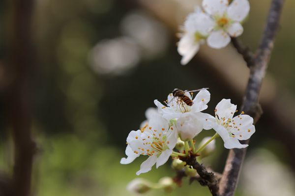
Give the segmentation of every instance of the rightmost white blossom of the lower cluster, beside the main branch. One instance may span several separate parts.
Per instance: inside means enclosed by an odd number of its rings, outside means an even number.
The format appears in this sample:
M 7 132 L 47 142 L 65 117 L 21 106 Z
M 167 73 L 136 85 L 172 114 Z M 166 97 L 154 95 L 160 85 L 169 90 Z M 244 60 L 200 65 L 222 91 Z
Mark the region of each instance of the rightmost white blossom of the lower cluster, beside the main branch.
M 215 108 L 215 118 L 207 119 L 212 128 L 220 135 L 224 141 L 224 147 L 243 148 L 239 140 L 247 140 L 255 132 L 253 118 L 244 115 L 243 112 L 233 118 L 236 112 L 236 105 L 231 103 L 231 99 L 222 99 Z

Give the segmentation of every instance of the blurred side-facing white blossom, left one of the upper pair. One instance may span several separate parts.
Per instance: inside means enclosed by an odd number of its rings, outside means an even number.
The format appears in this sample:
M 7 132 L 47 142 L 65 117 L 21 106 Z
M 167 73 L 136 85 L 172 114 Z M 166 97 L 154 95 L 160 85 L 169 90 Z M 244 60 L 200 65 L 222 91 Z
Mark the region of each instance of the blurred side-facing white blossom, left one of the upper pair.
M 203 13 L 199 7 L 189 14 L 184 22 L 181 38 L 178 42 L 177 51 L 182 56 L 181 64 L 187 64 L 199 51 L 200 44 L 205 43 L 209 32 L 214 26 L 214 21 Z

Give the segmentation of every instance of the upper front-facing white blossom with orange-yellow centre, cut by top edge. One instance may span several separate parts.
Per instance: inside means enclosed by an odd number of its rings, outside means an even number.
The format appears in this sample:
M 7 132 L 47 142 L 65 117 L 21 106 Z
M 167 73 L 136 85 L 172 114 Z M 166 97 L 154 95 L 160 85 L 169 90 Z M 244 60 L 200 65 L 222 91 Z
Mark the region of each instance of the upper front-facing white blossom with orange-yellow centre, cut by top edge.
M 248 0 L 233 0 L 230 5 L 228 0 L 203 0 L 202 5 L 215 23 L 207 38 L 208 46 L 221 49 L 230 43 L 230 36 L 238 37 L 242 34 L 243 27 L 240 23 L 249 13 Z

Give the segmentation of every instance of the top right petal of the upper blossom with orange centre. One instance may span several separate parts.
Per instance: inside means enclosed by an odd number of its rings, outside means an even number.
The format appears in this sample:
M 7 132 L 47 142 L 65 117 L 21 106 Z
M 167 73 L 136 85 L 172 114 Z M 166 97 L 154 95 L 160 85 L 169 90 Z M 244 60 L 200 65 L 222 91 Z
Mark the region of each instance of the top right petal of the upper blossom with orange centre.
M 233 0 L 227 9 L 227 15 L 230 19 L 241 22 L 244 20 L 250 11 L 248 0 Z

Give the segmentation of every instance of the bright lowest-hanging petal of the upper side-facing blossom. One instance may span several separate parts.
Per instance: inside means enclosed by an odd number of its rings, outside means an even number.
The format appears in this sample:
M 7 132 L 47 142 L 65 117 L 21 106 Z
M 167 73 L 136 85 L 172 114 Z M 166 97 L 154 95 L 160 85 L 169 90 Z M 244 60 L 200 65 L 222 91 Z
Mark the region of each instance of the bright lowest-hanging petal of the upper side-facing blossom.
M 178 42 L 177 51 L 182 56 L 181 65 L 186 65 L 199 51 L 200 43 L 196 42 L 193 34 L 185 33 Z

